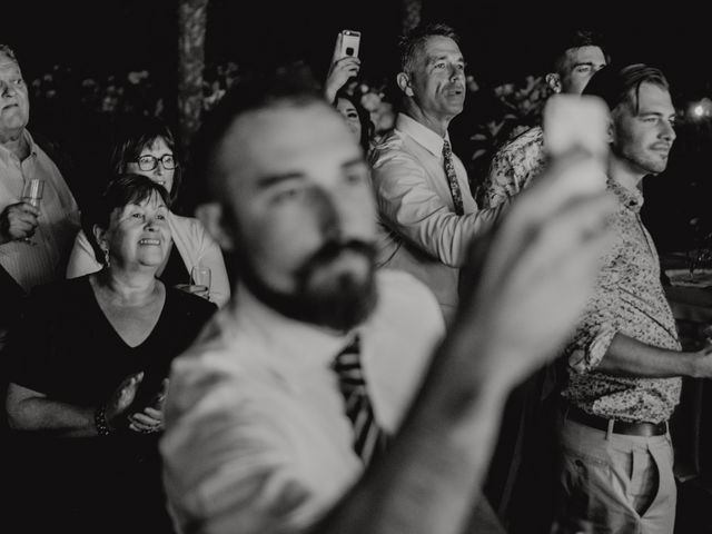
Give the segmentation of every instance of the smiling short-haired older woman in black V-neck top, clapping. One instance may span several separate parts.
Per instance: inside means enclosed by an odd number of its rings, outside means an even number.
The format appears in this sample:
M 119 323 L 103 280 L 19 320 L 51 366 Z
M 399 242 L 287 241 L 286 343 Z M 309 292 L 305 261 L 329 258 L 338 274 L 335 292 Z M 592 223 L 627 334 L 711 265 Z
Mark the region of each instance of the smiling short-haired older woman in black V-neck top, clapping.
M 164 187 L 113 180 L 93 228 L 107 266 L 38 288 L 10 333 L 13 510 L 43 511 L 23 514 L 26 527 L 51 517 L 61 532 L 137 532 L 135 516 L 141 532 L 169 530 L 156 452 L 165 377 L 216 307 L 156 278 L 167 217 Z

